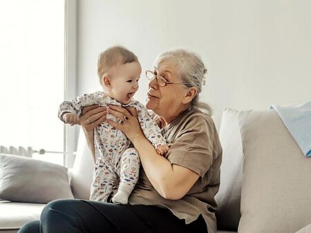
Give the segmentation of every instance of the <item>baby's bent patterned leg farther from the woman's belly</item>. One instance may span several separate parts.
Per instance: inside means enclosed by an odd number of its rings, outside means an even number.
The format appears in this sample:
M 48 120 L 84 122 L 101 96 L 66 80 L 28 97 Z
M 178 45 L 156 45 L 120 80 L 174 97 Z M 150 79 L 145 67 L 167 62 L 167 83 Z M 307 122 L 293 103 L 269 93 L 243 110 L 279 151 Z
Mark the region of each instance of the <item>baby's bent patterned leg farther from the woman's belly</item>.
M 97 159 L 91 185 L 91 201 L 107 202 L 117 180 L 111 163 Z

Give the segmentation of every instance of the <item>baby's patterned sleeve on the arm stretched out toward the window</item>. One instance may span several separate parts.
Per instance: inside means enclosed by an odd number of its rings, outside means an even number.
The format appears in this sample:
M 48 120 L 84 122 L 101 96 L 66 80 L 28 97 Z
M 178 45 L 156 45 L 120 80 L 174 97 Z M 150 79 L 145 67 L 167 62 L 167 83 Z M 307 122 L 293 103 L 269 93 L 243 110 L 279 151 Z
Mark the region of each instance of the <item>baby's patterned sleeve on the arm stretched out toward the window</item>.
M 80 115 L 82 112 L 82 108 L 88 105 L 93 104 L 100 104 L 100 97 L 102 96 L 101 92 L 95 92 L 91 94 L 84 94 L 80 97 L 76 97 L 75 99 L 72 99 L 71 101 L 64 101 L 59 105 L 58 110 L 58 117 L 61 121 L 64 121 L 62 119 L 62 115 L 66 112 L 69 113 L 75 113 L 77 115 Z

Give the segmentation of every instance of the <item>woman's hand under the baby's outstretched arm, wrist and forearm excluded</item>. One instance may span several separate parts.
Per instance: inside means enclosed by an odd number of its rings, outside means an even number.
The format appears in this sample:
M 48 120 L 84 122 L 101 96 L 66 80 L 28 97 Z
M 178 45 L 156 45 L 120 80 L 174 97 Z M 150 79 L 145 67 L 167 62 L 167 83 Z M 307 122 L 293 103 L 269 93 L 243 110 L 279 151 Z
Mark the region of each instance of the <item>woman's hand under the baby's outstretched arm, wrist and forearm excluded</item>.
M 94 128 L 106 120 L 106 114 L 106 107 L 99 107 L 98 105 L 84 107 L 79 117 L 79 125 L 85 132 L 93 132 Z

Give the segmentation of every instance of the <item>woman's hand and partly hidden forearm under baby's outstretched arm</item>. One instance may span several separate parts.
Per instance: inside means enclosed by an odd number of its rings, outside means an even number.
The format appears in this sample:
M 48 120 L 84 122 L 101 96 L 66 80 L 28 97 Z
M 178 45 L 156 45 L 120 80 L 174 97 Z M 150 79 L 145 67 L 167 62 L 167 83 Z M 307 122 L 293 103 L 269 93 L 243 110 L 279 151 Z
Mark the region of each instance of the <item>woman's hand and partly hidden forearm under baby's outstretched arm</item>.
M 106 120 L 106 108 L 98 107 L 98 105 L 90 105 L 82 109 L 82 114 L 79 117 L 79 125 L 82 126 L 88 148 L 90 148 L 93 160 L 95 163 L 94 150 L 94 128 Z M 88 122 L 91 122 L 88 123 Z

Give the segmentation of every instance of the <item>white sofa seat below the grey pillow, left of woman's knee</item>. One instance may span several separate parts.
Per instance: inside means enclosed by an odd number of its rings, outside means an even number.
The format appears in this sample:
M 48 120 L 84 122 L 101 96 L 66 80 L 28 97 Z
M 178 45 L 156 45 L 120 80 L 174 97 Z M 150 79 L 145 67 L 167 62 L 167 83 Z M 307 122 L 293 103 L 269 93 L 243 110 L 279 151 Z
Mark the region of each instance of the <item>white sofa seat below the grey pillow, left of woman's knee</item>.
M 29 221 L 39 220 L 45 204 L 0 201 L 0 230 L 19 229 Z

